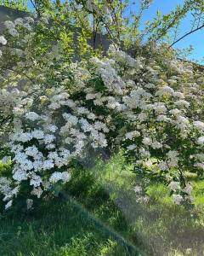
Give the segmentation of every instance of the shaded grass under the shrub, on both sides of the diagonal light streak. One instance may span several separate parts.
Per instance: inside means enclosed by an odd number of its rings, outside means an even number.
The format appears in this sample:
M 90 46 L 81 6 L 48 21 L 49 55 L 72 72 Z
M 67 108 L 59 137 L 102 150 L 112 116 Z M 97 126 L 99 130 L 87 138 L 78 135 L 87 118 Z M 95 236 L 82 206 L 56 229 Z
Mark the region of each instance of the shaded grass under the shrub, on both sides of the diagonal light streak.
M 54 198 L 26 214 L 10 212 L 0 219 L 0 255 L 139 255 L 130 253 L 111 233 L 86 214 L 128 233 L 122 213 L 90 174 L 76 174 L 65 188 L 74 201 Z M 79 193 L 80 192 L 80 193 Z M 82 206 L 82 209 L 78 207 Z M 122 241 L 125 240 L 122 238 Z

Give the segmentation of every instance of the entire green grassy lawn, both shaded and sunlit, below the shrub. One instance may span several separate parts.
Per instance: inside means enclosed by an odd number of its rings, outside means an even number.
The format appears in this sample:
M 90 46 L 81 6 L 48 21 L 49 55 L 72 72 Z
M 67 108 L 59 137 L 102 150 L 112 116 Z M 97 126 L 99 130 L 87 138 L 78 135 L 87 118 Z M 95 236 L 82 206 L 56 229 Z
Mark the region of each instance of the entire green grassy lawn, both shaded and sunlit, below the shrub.
M 204 255 L 204 181 L 190 177 L 194 208 L 173 204 L 161 183 L 146 183 L 139 203 L 131 167 L 117 155 L 76 172 L 63 199 L 3 214 L 0 255 Z

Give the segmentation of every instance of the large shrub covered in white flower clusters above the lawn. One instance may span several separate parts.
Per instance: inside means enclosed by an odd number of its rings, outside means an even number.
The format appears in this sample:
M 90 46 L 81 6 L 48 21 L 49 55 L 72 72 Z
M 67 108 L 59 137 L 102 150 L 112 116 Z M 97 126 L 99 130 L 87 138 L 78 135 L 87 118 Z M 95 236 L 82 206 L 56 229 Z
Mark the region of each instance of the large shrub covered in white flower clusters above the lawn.
M 199 70 L 165 45 L 136 58 L 111 45 L 108 57 L 71 62 L 60 40 L 48 41 L 47 16 L 5 25 L 1 137 L 8 135 L 3 161 L 12 162 L 12 173 L 0 178 L 6 208 L 25 187 L 31 207 L 54 183 L 68 182 L 71 162 L 88 148 L 124 148 L 140 172 L 167 183 L 173 201 L 193 200 L 184 172 L 201 177 L 204 170 Z

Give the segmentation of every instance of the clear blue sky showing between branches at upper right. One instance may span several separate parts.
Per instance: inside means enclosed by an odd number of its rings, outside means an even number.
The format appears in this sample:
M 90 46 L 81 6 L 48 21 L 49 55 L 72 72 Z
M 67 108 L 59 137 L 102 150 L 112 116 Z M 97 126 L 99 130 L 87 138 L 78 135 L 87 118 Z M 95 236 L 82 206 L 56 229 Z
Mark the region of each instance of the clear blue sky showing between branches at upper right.
M 153 0 L 150 9 L 147 9 L 144 12 L 142 22 L 145 22 L 146 20 L 152 20 L 155 17 L 157 10 L 160 10 L 162 14 L 167 14 L 171 10 L 175 9 L 177 4 L 183 3 L 184 0 Z M 31 8 L 31 4 L 29 4 L 29 7 Z M 179 31 L 179 36 L 182 36 L 185 32 L 190 31 L 190 20 L 190 15 L 188 15 L 183 20 Z M 194 50 L 190 55 L 189 59 L 204 63 L 204 30 L 195 32 L 190 36 L 184 38 L 178 44 L 175 44 L 175 47 L 178 49 L 184 49 L 189 47 L 190 45 L 193 45 Z

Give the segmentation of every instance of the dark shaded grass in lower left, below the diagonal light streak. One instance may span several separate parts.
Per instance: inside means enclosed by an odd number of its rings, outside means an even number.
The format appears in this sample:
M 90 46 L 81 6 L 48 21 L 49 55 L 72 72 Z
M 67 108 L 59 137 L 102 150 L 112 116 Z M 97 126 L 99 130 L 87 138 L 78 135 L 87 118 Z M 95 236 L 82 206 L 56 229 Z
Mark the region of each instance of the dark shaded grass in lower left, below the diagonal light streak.
M 127 255 L 71 202 L 52 201 L 35 216 L 3 218 L 0 255 Z

